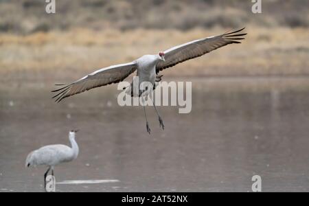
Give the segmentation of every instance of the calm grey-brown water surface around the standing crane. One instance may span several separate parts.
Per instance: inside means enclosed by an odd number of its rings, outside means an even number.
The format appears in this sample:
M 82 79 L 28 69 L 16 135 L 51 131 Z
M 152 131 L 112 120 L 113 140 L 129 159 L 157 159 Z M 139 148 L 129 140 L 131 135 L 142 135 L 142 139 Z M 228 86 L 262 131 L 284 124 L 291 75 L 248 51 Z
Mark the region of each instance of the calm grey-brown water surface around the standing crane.
M 52 88 L 0 88 L 0 191 L 43 191 L 45 168 L 23 168 L 28 152 L 69 144 L 80 129 L 78 159 L 56 167 L 68 179 L 119 180 L 58 185 L 69 191 L 242 191 L 262 176 L 263 191 L 309 191 L 308 79 L 193 80 L 192 113 L 159 106 L 165 130 L 147 108 L 119 107 L 116 87 L 60 104 Z

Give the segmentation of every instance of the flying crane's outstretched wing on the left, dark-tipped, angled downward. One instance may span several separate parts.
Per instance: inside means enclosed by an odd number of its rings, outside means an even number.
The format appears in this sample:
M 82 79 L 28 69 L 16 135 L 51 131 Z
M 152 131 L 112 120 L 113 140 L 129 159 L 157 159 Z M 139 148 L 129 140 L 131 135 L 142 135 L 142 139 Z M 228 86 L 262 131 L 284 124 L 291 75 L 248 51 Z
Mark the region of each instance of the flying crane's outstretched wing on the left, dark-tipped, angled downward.
M 95 87 L 102 87 L 107 84 L 113 84 L 121 82 L 127 78 L 131 73 L 137 69 L 135 62 L 130 62 L 122 65 L 113 65 L 111 67 L 105 67 L 99 69 L 93 73 L 90 73 L 84 78 L 77 80 L 65 87 L 56 89 L 52 92 L 57 92 L 53 98 L 56 98 L 56 102 L 60 102 L 64 98 L 68 98 L 71 95 L 76 95 Z

